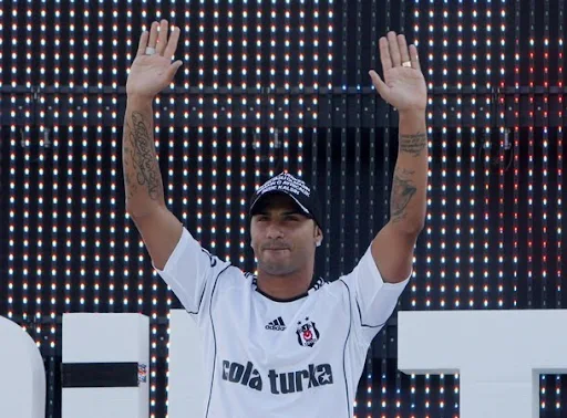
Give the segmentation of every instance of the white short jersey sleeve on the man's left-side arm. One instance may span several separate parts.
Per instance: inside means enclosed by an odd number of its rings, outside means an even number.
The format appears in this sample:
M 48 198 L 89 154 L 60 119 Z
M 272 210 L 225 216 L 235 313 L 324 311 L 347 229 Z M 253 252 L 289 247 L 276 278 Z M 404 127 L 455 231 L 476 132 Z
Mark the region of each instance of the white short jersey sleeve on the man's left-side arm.
M 182 237 L 163 270 L 154 269 L 175 293 L 185 310 L 198 314 L 210 293 L 215 276 L 229 263 L 212 255 L 184 227 Z

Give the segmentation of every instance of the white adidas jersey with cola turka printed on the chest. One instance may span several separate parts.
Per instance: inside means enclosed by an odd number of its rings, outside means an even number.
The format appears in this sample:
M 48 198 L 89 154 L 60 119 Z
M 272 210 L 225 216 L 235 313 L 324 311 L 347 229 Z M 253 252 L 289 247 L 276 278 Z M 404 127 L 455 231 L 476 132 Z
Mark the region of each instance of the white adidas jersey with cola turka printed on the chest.
M 369 248 L 350 274 L 281 302 L 185 228 L 158 273 L 202 332 L 206 418 L 352 417 L 370 343 L 409 281 L 384 283 Z

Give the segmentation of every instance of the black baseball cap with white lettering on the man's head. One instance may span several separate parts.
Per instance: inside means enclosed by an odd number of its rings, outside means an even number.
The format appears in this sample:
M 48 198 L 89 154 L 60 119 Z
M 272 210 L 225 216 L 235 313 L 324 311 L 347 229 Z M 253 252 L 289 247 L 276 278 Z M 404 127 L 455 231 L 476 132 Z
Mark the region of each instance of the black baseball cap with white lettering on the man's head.
M 260 205 L 259 202 L 277 194 L 289 196 L 299 208 L 299 212 L 308 218 L 315 220 L 317 226 L 322 230 L 322 216 L 321 207 L 317 192 L 312 187 L 306 184 L 300 178 L 297 178 L 289 173 L 281 173 L 255 191 L 250 199 L 250 217 L 256 215 L 256 211 Z

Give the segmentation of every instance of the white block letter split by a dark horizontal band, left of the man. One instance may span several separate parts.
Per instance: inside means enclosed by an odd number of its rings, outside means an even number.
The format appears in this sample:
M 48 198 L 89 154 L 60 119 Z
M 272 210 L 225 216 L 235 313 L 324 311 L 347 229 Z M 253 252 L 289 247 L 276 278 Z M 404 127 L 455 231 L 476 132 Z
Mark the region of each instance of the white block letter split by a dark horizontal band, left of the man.
M 140 314 L 72 313 L 63 315 L 63 370 L 82 365 L 99 384 L 63 387 L 62 418 L 147 418 L 150 416 L 150 321 Z M 116 365 L 130 363 L 127 387 L 112 387 Z M 94 364 L 94 365 L 93 365 Z M 134 365 L 132 365 L 134 364 Z M 69 365 L 69 366 L 68 366 Z M 140 365 L 140 366 L 138 366 Z M 75 370 L 70 380 L 83 379 Z M 128 374 L 132 378 L 132 373 Z M 106 380 L 104 383 L 103 380 Z M 134 386 L 135 385 L 135 386 Z M 90 387 L 100 386 L 100 387 Z M 110 386 L 110 387 L 109 387 Z

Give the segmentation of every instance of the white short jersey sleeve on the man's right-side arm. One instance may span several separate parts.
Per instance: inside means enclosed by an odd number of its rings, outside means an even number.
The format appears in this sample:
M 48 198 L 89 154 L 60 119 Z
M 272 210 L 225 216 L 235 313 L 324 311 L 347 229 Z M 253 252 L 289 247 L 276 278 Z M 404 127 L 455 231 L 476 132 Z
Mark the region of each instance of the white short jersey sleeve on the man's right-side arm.
M 352 315 L 360 343 L 369 345 L 392 315 L 398 300 L 410 281 L 383 281 L 370 247 L 354 270 L 341 280 L 348 285 L 352 297 Z

